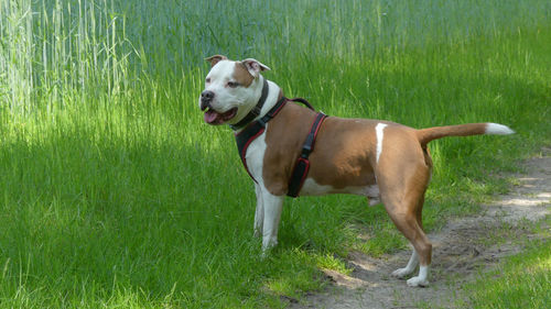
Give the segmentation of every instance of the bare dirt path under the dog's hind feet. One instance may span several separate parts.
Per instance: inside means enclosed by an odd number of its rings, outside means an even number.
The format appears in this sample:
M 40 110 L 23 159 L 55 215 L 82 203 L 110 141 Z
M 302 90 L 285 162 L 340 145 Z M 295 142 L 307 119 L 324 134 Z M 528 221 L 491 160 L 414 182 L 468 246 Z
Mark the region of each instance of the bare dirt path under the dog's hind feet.
M 382 258 L 353 253 L 350 276 L 326 272 L 333 284 L 290 308 L 453 308 L 454 300 L 464 297 L 462 286 L 474 279 L 480 266 L 489 268 L 521 251 L 522 244 L 510 235 L 536 236 L 526 228 L 550 213 L 551 148 L 527 161 L 526 169 L 527 174 L 515 175 L 519 185 L 485 206 L 484 213 L 456 219 L 429 234 L 433 243 L 430 287 L 410 288 L 389 275 L 408 263 L 411 251 Z

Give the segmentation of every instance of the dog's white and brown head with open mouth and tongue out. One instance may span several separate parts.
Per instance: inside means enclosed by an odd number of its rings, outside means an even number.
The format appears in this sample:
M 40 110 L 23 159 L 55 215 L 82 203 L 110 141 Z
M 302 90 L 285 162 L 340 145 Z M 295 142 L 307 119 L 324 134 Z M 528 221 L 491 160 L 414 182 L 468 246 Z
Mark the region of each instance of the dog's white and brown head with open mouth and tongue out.
M 252 58 L 234 62 L 215 55 L 206 60 L 210 62 L 210 71 L 199 97 L 205 122 L 235 124 L 257 104 L 262 91 L 260 71 L 270 68 Z

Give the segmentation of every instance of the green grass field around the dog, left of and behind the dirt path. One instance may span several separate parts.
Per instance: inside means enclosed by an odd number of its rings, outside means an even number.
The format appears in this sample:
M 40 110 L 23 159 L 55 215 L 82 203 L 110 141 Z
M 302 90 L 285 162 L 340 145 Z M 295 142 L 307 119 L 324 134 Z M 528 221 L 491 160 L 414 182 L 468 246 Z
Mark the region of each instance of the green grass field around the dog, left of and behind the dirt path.
M 0 36 L 1 308 L 279 308 L 404 246 L 364 198 L 300 198 L 260 257 L 233 134 L 197 108 L 213 54 L 332 115 L 516 130 L 431 143 L 428 229 L 551 143 L 548 0 L 0 0 Z

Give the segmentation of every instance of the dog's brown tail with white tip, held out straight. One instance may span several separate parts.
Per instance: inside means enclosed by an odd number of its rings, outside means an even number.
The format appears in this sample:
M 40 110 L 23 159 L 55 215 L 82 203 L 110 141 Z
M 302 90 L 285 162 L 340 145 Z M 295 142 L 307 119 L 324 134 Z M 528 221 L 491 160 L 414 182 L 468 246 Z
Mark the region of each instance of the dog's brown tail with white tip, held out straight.
M 446 136 L 469 136 L 480 134 L 507 135 L 512 133 L 515 133 L 515 131 L 507 125 L 487 122 L 421 129 L 417 131 L 417 136 L 421 146 L 424 147 L 429 142 Z

